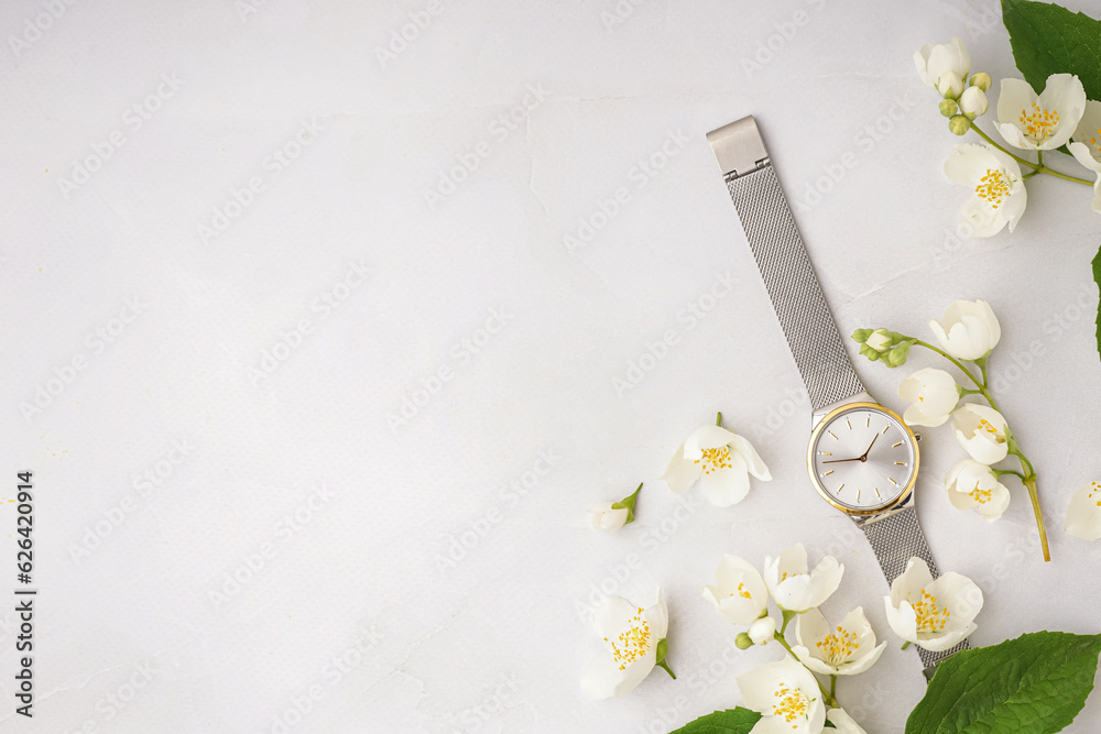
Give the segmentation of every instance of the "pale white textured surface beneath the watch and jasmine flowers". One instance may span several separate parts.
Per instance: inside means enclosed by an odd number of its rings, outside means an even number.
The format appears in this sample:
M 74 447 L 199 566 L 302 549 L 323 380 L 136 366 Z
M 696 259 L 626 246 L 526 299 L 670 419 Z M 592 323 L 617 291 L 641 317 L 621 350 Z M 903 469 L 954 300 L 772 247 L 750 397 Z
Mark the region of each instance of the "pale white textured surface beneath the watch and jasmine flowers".
M 996 2 L 249 2 L 0 8 L 0 491 L 34 470 L 41 589 L 33 721 L 13 714 L 0 603 L 0 728 L 665 732 L 738 703 L 734 675 L 780 654 L 728 648 L 737 631 L 699 595 L 721 554 L 760 562 L 799 540 L 846 565 L 826 611 L 862 604 L 894 640 L 874 557 L 806 480 L 802 383 L 704 139 L 746 113 L 804 205 L 843 333 L 927 336 L 956 298 L 1002 320 L 993 370 L 1055 560 L 1023 493 L 991 526 L 950 507 L 939 478 L 961 451 L 926 430 L 923 525 L 941 568 L 986 593 L 972 642 L 1098 632 L 1101 545 L 1061 525 L 1101 474 L 1101 219 L 1086 189 L 1036 180 L 1014 234 L 956 240 L 966 191 L 940 166 L 957 139 L 911 61 L 960 35 L 975 68 L 1014 74 Z M 235 191 L 249 204 L 222 222 Z M 617 392 L 668 330 L 677 343 Z M 902 371 L 858 369 L 902 407 Z M 41 409 L 21 407 L 40 388 Z M 717 409 L 775 480 L 677 512 L 658 478 Z M 635 525 L 586 526 L 640 481 Z M 14 516 L 3 502 L 4 534 Z M 586 605 L 648 603 L 658 584 L 679 679 L 581 700 L 600 648 Z M 923 688 L 892 642 L 838 694 L 869 732 L 901 732 Z M 1068 731 L 1099 728 L 1094 695 Z

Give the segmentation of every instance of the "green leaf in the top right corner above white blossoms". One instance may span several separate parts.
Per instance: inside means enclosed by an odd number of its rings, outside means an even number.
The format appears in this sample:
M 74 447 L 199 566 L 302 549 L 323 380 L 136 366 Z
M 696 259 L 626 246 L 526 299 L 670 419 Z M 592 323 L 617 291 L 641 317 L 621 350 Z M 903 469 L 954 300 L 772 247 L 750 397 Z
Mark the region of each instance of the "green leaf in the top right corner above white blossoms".
M 1066 8 L 1002 0 L 1013 58 L 1037 94 L 1053 74 L 1077 74 L 1086 96 L 1101 100 L 1101 22 Z

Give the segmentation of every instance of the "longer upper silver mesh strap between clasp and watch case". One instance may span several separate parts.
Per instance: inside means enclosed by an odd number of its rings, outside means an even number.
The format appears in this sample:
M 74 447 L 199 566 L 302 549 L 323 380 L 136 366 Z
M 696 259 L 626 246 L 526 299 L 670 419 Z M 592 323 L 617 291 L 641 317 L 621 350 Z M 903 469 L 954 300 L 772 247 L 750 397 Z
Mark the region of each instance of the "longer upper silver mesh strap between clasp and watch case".
M 772 163 L 726 182 L 810 404 L 820 408 L 863 392 Z

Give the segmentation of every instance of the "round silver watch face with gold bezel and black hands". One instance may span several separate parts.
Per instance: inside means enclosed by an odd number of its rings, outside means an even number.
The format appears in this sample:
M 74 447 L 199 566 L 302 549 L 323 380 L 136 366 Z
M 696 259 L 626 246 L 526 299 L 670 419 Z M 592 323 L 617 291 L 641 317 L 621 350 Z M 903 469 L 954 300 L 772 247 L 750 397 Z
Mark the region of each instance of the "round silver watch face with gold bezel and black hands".
M 815 489 L 851 515 L 871 515 L 906 499 L 917 464 L 914 432 L 875 403 L 852 403 L 827 415 L 807 454 Z

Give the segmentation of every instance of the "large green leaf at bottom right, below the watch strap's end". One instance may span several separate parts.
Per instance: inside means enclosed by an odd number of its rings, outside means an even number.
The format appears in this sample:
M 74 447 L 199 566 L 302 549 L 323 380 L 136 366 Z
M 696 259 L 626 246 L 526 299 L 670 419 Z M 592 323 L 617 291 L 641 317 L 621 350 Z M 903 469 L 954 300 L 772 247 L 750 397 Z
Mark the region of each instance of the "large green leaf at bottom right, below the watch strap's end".
M 957 653 L 906 721 L 906 734 L 1050 734 L 1093 690 L 1101 635 L 1035 632 Z

